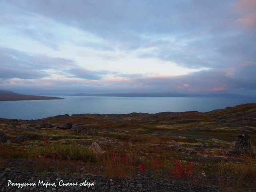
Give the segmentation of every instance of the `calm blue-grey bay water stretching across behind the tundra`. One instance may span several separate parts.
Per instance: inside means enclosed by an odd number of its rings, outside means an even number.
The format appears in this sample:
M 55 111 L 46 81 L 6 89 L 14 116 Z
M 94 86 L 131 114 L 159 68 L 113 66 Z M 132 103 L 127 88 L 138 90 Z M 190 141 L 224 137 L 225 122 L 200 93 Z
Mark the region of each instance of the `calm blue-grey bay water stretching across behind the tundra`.
M 63 114 L 128 114 L 132 112 L 207 112 L 256 103 L 256 97 L 91 97 L 58 96 L 66 100 L 1 101 L 0 118 L 40 119 Z

